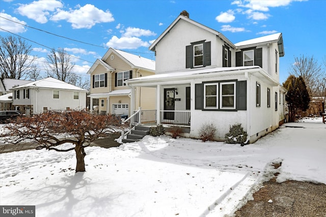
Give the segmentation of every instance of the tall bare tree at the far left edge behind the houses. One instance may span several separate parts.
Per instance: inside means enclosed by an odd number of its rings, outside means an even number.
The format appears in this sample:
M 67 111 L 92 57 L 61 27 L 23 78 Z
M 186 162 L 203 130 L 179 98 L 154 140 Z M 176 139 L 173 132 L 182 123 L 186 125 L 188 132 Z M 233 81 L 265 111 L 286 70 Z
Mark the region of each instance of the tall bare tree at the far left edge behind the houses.
M 31 72 L 37 72 L 36 56 L 31 56 L 31 45 L 21 38 L 0 36 L 1 78 L 27 79 Z

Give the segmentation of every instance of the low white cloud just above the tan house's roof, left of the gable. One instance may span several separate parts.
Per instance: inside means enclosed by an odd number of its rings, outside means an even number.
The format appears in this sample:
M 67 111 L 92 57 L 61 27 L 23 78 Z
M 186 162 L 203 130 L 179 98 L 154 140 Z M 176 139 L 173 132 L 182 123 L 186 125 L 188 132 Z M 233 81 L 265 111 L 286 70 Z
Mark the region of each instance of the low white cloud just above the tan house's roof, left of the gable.
M 116 49 L 137 49 L 139 47 L 149 47 L 150 44 L 136 37 L 118 38 L 117 36 L 113 36 L 105 45 Z

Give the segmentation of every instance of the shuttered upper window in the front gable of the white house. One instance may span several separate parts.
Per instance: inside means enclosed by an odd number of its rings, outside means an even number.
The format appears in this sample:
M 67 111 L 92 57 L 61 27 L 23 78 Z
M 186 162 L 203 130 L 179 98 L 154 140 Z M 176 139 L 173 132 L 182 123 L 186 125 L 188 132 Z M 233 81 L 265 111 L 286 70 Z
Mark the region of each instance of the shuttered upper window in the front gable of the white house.
M 193 42 L 185 48 L 185 68 L 210 66 L 210 42 Z

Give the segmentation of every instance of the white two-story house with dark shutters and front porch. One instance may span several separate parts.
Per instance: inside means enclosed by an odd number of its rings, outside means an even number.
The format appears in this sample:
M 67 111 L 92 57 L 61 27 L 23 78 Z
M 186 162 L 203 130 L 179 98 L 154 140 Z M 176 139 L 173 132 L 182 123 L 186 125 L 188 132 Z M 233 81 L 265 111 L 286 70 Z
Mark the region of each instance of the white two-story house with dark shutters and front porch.
M 284 118 L 281 33 L 234 44 L 182 12 L 150 50 L 156 54 L 156 75 L 126 83 L 131 91 L 156 88 L 157 124 L 184 126 L 189 137 L 199 138 L 202 125 L 211 122 L 215 139 L 224 141 L 230 126 L 241 123 L 255 142 Z

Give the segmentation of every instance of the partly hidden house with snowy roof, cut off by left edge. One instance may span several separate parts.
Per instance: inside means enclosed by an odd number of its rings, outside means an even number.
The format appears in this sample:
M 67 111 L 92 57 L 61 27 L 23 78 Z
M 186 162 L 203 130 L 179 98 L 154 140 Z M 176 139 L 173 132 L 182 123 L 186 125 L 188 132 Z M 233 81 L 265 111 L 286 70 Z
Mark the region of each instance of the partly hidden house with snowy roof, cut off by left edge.
M 14 110 L 15 108 L 12 106 L 13 100 L 11 88 L 30 82 L 32 81 L 11 78 L 0 79 L 0 111 Z

